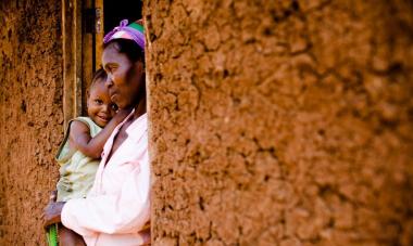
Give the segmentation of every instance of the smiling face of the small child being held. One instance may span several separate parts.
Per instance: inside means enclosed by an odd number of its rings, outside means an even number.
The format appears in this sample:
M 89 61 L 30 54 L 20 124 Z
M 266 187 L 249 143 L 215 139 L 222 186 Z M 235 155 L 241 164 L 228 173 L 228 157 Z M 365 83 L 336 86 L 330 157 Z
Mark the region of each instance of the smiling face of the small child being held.
M 104 127 L 116 114 L 116 105 L 109 96 L 104 81 L 96 81 L 87 99 L 87 114 L 99 127 Z

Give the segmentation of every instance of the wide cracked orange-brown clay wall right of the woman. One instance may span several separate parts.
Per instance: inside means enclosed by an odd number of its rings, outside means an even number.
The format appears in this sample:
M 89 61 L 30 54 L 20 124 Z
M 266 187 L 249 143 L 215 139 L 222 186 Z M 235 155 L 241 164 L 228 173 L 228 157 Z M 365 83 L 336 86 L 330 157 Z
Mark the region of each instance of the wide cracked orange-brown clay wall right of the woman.
M 155 245 L 413 245 L 412 1 L 146 1 Z

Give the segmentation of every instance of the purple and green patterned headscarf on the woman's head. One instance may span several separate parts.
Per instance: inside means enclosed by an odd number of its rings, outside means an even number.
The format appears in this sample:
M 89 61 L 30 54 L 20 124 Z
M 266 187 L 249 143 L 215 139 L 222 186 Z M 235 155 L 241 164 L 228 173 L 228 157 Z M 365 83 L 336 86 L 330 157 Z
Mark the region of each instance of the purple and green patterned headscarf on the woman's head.
M 120 26 L 116 26 L 103 38 L 103 43 L 108 43 L 113 39 L 129 39 L 135 41 L 145 51 L 145 33 L 143 26 L 138 23 L 127 25 L 127 20 L 123 20 Z

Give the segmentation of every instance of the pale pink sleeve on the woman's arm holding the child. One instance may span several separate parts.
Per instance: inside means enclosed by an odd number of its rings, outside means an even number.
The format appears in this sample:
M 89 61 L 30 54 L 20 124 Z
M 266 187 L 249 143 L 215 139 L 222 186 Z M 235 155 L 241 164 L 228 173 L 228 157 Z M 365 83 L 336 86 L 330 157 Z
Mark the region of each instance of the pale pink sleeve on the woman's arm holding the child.
M 148 153 L 120 182 L 120 194 L 68 200 L 62 210 L 62 223 L 83 236 L 140 231 L 150 217 Z

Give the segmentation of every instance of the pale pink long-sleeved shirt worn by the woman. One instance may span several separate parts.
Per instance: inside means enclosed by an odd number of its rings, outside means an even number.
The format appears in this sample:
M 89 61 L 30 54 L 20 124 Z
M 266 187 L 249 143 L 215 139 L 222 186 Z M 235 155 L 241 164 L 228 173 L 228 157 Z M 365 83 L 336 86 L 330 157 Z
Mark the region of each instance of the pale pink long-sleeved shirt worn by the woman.
M 150 243 L 150 167 L 147 114 L 126 129 L 128 138 L 107 163 L 113 140 L 103 147 L 96 180 L 87 198 L 71 199 L 62 210 L 62 223 L 83 235 L 87 245 L 126 246 Z

